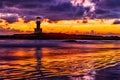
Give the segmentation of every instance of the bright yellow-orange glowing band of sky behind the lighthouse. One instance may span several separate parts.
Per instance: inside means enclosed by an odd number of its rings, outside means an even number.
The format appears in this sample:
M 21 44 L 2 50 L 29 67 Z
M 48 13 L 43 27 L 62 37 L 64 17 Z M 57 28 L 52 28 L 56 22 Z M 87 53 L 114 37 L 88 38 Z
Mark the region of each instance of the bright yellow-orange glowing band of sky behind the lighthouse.
M 44 19 L 41 28 L 44 33 L 67 33 L 67 34 L 120 34 L 120 24 L 113 24 L 116 19 L 94 19 L 88 23 L 82 20 L 59 20 L 50 21 Z M 35 21 L 25 22 L 19 18 L 17 22 L 8 23 L 5 20 L 0 22 L 1 28 L 9 30 L 19 30 L 21 33 L 33 33 L 36 27 Z

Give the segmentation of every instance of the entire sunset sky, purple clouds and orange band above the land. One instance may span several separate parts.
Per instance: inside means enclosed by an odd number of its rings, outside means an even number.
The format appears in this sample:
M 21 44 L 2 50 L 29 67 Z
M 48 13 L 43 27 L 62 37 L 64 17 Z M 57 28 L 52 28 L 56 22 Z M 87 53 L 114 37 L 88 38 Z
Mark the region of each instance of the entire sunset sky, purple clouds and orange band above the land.
M 0 0 L 0 35 L 33 33 L 37 16 L 44 17 L 47 33 L 120 34 L 120 25 L 113 24 L 120 18 L 119 0 Z

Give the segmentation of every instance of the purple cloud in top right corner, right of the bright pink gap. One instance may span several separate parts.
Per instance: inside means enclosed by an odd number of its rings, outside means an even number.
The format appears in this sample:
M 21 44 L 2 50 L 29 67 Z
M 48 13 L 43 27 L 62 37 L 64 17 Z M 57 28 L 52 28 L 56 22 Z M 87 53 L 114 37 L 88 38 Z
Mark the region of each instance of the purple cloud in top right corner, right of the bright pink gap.
M 120 18 L 120 0 L 100 0 L 96 7 L 100 18 Z

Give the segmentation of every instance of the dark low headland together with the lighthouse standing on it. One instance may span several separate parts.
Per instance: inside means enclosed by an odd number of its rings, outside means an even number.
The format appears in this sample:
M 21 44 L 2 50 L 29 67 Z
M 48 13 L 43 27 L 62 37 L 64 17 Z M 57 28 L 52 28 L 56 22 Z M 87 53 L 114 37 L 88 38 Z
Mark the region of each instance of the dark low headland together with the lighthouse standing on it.
M 97 35 L 76 35 L 65 33 L 42 33 L 41 17 L 36 18 L 36 28 L 32 34 L 14 34 L 14 35 L 0 35 L 0 39 L 80 39 L 80 40 L 120 40 L 118 36 L 97 36 Z

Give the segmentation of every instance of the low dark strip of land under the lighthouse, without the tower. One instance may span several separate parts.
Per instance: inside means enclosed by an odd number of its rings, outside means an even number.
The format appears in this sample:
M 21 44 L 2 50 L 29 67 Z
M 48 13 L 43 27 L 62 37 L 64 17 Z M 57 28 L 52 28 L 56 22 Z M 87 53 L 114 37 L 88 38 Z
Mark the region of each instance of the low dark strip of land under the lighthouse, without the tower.
M 119 36 L 75 35 L 63 33 L 0 35 L 0 39 L 16 40 L 120 40 Z

